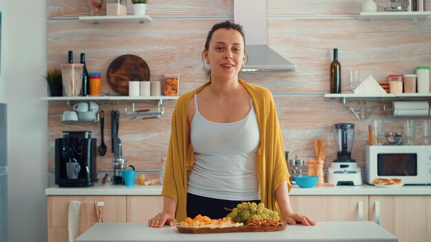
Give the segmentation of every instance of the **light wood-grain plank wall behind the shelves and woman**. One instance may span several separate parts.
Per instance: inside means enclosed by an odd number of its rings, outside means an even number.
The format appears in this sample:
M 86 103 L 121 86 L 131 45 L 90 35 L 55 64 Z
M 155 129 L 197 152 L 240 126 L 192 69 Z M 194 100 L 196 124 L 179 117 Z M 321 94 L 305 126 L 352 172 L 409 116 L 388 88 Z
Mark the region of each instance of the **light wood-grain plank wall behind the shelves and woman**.
M 383 0 L 376 2 L 379 8 L 386 3 Z M 353 158 L 364 169 L 368 124 L 373 118 L 382 118 L 385 112 L 379 103 L 368 103 L 377 111 L 368 120 L 357 120 L 339 100 L 323 98 L 329 89 L 332 49 L 339 48 L 343 92 L 350 92 L 348 69 L 359 70 L 362 79 L 371 74 L 378 81 L 386 81 L 388 74 L 414 73 L 417 65 L 431 65 L 431 19 L 416 23 L 408 20 L 358 21 L 354 15 L 360 12 L 360 0 L 268 0 L 267 3 L 268 43 L 298 69 L 296 72 L 241 73 L 240 78 L 277 94 L 275 103 L 290 157 L 313 157 L 313 140 L 325 135 L 328 139 L 327 168 L 330 160 L 335 158 L 333 124 L 353 122 L 356 125 Z M 143 58 L 149 65 L 151 80 L 160 80 L 161 74 L 180 74 L 180 93 L 198 87 L 207 81 L 201 61 L 207 32 L 214 23 L 233 19 L 233 0 L 149 1 L 148 14 L 154 21 L 143 24 L 93 25 L 63 18 L 86 16 L 87 8 L 85 0 L 48 0 L 48 67 L 65 63 L 67 50 L 74 51 L 75 62 L 78 62 L 79 53 L 85 52 L 89 72 L 102 73 L 102 93 L 114 92 L 107 84 L 106 71 L 109 63 L 123 54 Z M 427 3 L 427 8 L 431 10 L 431 2 Z M 122 113 L 119 136 L 129 164 L 134 164 L 138 170 L 157 169 L 160 157 L 167 153 L 175 101 L 164 102 L 165 115 L 155 120 L 129 120 L 124 109 L 131 107 L 132 102 L 98 104 L 106 114 L 105 143 L 108 145 L 107 155 L 97 158 L 98 170 L 103 173 L 112 170 L 111 109 Z M 357 105 L 356 102 L 351 104 Z M 100 144 L 100 128 L 92 122 L 61 122 L 60 114 L 70 107 L 65 102 L 49 102 L 48 105 L 48 170 L 52 172 L 54 139 L 61 137 L 61 131 L 90 130 Z M 154 102 L 138 102 L 138 105 L 156 107 Z M 385 131 L 402 131 L 404 119 L 386 116 Z

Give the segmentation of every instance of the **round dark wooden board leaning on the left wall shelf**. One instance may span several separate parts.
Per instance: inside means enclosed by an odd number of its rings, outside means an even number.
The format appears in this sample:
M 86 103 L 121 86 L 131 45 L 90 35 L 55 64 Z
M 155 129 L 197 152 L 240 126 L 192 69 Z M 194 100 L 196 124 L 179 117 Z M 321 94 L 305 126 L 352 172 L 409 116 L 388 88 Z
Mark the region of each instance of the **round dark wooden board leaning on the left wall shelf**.
M 149 80 L 149 67 L 139 56 L 118 56 L 107 69 L 109 86 L 122 96 L 129 96 L 130 80 Z

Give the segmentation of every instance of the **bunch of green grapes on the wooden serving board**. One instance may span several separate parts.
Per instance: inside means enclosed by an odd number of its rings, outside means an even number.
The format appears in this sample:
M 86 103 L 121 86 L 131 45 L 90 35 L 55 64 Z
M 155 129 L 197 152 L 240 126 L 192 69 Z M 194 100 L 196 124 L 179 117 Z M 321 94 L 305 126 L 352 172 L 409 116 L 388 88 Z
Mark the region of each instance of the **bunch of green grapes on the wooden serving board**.
M 247 224 L 249 221 L 256 219 L 273 219 L 280 220 L 278 212 L 265 208 L 264 203 L 256 204 L 255 202 L 243 201 L 239 203 L 236 208 L 228 209 L 231 211 L 226 217 L 231 217 L 232 221 L 236 223 Z

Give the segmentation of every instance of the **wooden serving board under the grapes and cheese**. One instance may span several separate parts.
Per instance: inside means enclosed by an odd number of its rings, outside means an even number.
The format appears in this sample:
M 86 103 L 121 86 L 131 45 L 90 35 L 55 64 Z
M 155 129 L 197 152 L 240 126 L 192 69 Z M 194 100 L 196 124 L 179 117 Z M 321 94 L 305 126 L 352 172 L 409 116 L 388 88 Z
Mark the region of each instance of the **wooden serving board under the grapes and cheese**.
M 247 226 L 243 225 L 240 227 L 232 228 L 195 228 L 195 227 L 185 227 L 177 225 L 176 228 L 180 233 L 184 234 L 214 234 L 214 233 L 231 233 L 231 232 L 274 232 L 282 231 L 287 227 L 287 223 L 278 226 Z

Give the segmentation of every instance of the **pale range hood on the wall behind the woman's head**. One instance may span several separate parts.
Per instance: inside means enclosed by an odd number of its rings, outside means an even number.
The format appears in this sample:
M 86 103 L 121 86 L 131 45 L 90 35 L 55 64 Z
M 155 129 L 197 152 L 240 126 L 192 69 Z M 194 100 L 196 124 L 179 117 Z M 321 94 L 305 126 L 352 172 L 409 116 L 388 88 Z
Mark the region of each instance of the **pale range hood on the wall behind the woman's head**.
M 242 25 L 246 34 L 243 72 L 295 71 L 296 65 L 266 44 L 266 0 L 234 0 L 233 10 L 235 23 Z

